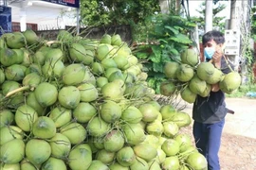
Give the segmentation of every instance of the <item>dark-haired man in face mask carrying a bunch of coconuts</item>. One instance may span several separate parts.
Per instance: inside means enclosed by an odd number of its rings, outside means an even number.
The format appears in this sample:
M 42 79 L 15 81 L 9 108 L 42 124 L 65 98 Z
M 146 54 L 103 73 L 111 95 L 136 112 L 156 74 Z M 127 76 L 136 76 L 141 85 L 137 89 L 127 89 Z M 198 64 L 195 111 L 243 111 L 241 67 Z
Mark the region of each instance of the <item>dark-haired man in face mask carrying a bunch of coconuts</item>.
M 225 43 L 223 33 L 216 30 L 209 31 L 203 35 L 202 42 L 206 61 L 211 62 L 223 74 L 229 74 L 233 70 L 233 65 L 223 52 Z M 220 170 L 218 152 L 227 112 L 233 113 L 226 108 L 225 93 L 220 90 L 219 83 L 211 84 L 209 96 L 197 95 L 193 103 L 192 133 L 196 147 L 208 161 L 209 170 Z

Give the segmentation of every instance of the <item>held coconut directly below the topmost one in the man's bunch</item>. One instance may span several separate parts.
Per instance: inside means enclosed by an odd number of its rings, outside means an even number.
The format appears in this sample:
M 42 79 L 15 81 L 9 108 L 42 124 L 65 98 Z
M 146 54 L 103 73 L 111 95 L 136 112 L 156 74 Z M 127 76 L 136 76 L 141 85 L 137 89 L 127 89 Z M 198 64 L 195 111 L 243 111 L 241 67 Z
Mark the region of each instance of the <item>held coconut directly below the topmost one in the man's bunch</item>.
M 179 68 L 176 71 L 176 77 L 181 82 L 188 82 L 192 79 L 194 73 L 192 66 L 189 64 L 180 64 Z

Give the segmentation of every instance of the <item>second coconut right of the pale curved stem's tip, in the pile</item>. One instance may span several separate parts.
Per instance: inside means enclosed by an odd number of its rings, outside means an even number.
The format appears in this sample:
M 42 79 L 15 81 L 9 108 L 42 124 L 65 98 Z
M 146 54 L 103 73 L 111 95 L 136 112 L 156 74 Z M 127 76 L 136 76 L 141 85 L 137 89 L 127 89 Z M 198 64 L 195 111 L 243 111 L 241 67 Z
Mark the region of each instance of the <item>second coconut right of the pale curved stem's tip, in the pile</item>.
M 64 86 L 58 93 L 59 103 L 67 109 L 75 109 L 81 100 L 81 93 L 75 86 Z

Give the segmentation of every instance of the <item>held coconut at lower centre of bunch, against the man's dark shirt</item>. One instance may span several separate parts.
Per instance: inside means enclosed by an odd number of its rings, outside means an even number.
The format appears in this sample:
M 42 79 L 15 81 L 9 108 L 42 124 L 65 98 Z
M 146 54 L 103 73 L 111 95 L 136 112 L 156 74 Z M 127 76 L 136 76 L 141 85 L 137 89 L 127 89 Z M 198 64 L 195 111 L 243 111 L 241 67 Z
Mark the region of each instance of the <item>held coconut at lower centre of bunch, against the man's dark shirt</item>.
M 207 88 L 207 83 L 205 80 L 200 79 L 198 76 L 193 76 L 190 83 L 189 88 L 192 93 L 204 93 Z

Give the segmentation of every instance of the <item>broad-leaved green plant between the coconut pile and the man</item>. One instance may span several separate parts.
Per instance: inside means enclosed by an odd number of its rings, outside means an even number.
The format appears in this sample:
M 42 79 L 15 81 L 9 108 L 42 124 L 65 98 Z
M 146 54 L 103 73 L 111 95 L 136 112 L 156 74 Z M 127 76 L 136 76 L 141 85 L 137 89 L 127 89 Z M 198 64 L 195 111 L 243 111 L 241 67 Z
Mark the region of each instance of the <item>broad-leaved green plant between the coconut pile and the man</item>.
M 180 52 L 192 44 L 190 32 L 195 25 L 179 15 L 158 14 L 151 18 L 149 39 L 154 43 L 139 46 L 136 56 L 144 59 L 148 74 L 148 85 L 159 93 L 159 86 L 165 80 L 163 67 L 170 60 L 180 60 Z

